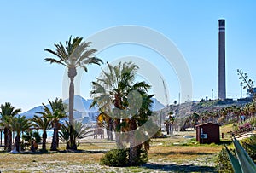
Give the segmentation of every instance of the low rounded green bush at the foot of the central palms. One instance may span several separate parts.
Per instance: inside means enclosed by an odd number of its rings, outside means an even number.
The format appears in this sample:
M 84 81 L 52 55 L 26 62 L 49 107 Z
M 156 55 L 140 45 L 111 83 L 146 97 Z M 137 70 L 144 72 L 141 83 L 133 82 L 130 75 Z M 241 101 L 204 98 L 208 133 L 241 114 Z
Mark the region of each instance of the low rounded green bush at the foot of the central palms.
M 128 163 L 128 150 L 112 149 L 100 160 L 100 164 L 108 166 L 126 166 Z

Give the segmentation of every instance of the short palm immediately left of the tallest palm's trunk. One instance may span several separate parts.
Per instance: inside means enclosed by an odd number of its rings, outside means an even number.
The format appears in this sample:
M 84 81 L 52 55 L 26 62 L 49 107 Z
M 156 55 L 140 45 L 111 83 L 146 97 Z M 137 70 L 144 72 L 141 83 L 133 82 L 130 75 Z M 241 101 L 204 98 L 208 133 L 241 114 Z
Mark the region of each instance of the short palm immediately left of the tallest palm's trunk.
M 49 100 L 48 100 L 49 101 Z M 54 128 L 54 134 L 51 142 L 50 150 L 55 151 L 58 148 L 59 137 L 58 130 L 61 128 L 60 120 L 66 117 L 65 106 L 61 99 L 56 98 L 55 101 L 49 101 L 49 107 L 44 106 L 44 112 L 38 112 L 44 117 L 49 118 Z

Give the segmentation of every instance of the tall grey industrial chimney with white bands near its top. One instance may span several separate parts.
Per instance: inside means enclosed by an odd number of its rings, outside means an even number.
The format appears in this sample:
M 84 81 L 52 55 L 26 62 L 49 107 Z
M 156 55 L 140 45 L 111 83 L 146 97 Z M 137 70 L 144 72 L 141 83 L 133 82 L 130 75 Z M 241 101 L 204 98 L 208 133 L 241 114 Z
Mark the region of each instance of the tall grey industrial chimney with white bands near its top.
M 218 20 L 218 99 L 226 99 L 225 20 Z

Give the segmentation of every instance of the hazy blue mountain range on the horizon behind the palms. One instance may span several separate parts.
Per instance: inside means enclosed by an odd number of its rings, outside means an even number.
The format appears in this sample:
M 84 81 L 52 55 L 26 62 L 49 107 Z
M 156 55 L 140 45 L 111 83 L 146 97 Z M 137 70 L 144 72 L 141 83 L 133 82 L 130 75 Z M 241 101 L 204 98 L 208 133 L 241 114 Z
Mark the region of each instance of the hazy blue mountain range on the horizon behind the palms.
M 160 103 L 157 99 L 153 98 L 153 111 L 159 111 L 160 109 L 164 108 L 165 106 Z M 74 96 L 74 110 L 75 112 L 86 112 L 87 114 L 90 112 L 97 112 L 98 107 L 91 107 L 90 104 L 92 103 L 92 99 L 84 99 L 80 95 L 75 95 Z M 68 99 L 63 101 L 64 103 L 68 104 Z M 49 107 L 49 105 L 46 105 Z M 44 107 L 43 106 L 38 106 L 34 107 L 31 110 L 21 113 L 21 115 L 25 115 L 26 118 L 32 118 L 37 112 L 44 112 Z M 85 114 L 86 114 L 85 113 Z

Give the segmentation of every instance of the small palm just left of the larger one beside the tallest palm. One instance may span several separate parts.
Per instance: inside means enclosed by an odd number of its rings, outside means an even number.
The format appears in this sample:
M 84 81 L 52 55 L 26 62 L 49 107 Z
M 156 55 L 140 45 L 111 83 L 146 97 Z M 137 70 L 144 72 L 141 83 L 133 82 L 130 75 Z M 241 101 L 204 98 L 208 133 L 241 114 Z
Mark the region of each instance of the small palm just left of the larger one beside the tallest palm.
M 32 118 L 33 125 L 35 127 L 38 127 L 39 129 L 43 130 L 43 143 L 42 143 L 42 151 L 45 152 L 46 150 L 46 139 L 47 139 L 47 132 L 46 130 L 50 129 L 50 118 L 47 118 L 46 116 L 38 117 L 35 115 Z

